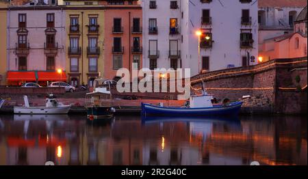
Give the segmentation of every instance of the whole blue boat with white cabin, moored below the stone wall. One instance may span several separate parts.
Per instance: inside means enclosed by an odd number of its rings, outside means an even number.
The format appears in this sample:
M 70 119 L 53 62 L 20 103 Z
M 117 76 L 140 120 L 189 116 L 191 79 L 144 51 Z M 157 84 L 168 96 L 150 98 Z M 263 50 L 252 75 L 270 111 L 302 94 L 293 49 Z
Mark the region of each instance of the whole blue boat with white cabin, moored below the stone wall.
M 238 115 L 242 102 L 229 102 L 213 106 L 213 96 L 203 91 L 202 95 L 190 96 L 190 107 L 164 107 L 142 103 L 142 115 L 164 116 L 230 116 Z

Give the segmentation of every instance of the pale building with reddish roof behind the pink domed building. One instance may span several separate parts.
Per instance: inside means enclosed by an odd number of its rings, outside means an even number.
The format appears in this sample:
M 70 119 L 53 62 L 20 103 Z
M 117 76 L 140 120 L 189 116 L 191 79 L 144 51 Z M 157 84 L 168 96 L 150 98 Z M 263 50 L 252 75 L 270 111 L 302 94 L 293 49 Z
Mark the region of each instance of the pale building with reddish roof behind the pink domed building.
M 264 40 L 294 32 L 294 21 L 306 5 L 306 0 L 258 1 L 259 53 L 269 50 Z

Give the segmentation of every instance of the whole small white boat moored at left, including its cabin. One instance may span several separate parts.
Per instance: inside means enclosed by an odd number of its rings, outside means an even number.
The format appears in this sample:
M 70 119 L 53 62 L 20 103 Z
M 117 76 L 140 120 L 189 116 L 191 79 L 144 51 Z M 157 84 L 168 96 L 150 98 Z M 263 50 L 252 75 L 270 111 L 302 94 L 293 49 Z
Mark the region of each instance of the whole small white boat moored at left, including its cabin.
M 63 105 L 57 102 L 53 94 L 46 99 L 45 107 L 30 107 L 27 96 L 23 96 L 25 101 L 24 107 L 14 107 L 14 113 L 18 114 L 66 114 L 70 110 L 71 105 Z

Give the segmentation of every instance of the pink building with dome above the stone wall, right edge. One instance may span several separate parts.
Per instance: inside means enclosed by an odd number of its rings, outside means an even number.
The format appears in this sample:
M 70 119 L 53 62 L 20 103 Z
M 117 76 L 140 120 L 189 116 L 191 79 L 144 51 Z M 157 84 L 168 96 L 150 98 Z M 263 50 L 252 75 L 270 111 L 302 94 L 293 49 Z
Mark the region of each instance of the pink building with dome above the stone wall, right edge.
M 264 40 L 259 57 L 263 61 L 307 56 L 307 6 L 294 21 L 294 33 Z

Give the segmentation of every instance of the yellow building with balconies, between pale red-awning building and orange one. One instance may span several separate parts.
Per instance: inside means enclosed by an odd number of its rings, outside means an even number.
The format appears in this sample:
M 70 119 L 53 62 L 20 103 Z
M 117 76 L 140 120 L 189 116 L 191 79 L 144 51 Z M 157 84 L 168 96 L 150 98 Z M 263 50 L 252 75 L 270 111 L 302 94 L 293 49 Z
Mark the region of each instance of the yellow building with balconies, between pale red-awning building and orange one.
M 97 1 L 64 1 L 64 5 L 68 83 L 91 87 L 104 69 L 104 8 Z

